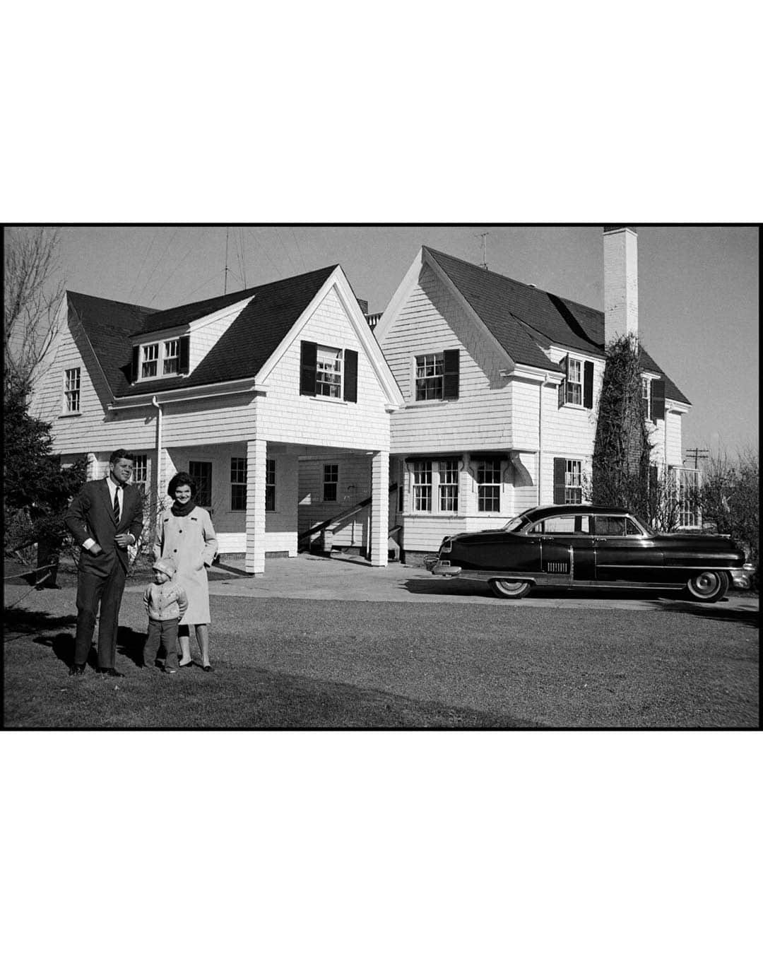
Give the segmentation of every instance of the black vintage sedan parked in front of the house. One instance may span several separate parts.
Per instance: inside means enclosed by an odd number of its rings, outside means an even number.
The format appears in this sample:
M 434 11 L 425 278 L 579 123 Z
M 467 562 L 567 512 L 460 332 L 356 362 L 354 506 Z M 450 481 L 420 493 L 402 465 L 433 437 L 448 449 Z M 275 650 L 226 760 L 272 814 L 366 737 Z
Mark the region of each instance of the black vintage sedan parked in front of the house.
M 436 576 L 484 580 L 517 599 L 532 587 L 687 590 L 712 603 L 750 588 L 752 566 L 728 536 L 652 533 L 621 508 L 534 507 L 503 529 L 443 539 L 424 564 Z

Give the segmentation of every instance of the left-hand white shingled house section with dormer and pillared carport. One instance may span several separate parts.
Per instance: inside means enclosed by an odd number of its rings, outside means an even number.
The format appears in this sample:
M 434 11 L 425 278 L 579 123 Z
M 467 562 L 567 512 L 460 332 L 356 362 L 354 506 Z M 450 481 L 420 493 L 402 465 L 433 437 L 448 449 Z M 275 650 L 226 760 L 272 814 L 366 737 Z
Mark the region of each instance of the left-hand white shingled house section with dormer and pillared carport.
M 31 410 L 64 464 L 85 454 L 101 476 L 127 447 L 159 506 L 188 470 L 251 573 L 296 555 L 323 505 L 365 501 L 340 532 L 386 565 L 402 395 L 339 265 L 161 311 L 67 292 L 59 326 Z

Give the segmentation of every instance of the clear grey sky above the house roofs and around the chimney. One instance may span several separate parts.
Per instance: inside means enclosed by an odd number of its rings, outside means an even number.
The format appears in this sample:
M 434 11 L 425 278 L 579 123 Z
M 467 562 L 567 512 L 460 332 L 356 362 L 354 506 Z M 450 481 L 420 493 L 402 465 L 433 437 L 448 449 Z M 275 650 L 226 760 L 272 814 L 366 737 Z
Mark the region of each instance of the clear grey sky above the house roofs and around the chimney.
M 638 227 L 639 329 L 691 401 L 684 452 L 758 445 L 758 231 Z M 72 291 L 169 308 L 340 264 L 382 311 L 421 245 L 603 308 L 602 232 L 592 226 L 70 226 Z M 244 285 L 244 279 L 246 285 Z

